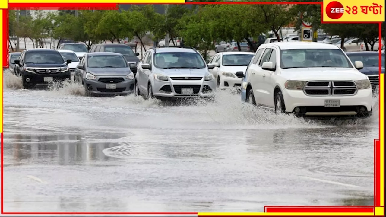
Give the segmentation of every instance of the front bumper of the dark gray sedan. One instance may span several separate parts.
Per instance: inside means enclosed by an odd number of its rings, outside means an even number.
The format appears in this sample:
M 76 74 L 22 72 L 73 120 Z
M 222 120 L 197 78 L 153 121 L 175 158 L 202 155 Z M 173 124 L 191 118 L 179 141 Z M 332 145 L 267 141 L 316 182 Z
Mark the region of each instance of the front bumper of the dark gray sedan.
M 113 82 L 110 82 L 110 80 Z M 120 81 L 120 80 L 123 80 L 123 81 Z M 125 76 L 97 76 L 97 79 L 95 80 L 83 79 L 83 83 L 85 85 L 86 90 L 88 90 L 89 93 L 94 93 L 94 94 L 126 95 L 134 92 L 134 79 L 129 80 L 129 79 L 126 79 Z M 116 88 L 109 89 L 107 88 L 107 84 L 115 84 Z

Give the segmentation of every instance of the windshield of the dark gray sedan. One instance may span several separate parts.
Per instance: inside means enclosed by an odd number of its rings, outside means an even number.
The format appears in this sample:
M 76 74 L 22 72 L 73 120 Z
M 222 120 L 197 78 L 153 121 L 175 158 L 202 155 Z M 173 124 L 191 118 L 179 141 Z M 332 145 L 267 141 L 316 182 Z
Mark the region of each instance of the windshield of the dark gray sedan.
M 89 56 L 87 66 L 93 68 L 124 68 L 128 67 L 123 56 Z

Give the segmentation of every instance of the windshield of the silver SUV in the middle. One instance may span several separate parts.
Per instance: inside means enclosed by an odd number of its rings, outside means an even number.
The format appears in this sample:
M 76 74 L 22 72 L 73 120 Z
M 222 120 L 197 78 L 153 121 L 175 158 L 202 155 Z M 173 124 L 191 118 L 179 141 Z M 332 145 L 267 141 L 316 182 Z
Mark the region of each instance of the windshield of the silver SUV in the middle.
M 157 68 L 205 68 L 206 64 L 198 53 L 168 52 L 154 55 Z

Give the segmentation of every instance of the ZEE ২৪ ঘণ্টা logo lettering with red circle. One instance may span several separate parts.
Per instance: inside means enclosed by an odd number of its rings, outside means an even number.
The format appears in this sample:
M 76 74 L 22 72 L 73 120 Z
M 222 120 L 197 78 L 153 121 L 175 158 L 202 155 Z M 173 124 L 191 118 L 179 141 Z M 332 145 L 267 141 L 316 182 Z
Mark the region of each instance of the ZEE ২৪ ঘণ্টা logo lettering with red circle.
M 382 5 L 378 5 L 377 3 L 372 3 L 372 5 L 362 5 L 362 6 L 345 6 L 343 7 L 342 3 L 334 1 L 330 2 L 326 6 L 326 14 L 330 19 L 339 19 L 343 16 L 343 14 L 347 13 L 349 15 L 357 15 L 358 13 L 362 13 L 364 15 L 374 14 L 381 15 L 382 14 Z M 383 15 L 384 16 L 384 15 Z

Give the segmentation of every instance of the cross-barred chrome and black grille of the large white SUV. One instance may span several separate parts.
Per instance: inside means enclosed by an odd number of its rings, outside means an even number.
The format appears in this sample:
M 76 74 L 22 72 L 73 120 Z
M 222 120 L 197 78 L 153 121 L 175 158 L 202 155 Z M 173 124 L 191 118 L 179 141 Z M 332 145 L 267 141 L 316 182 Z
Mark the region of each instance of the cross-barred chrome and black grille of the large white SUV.
M 357 86 L 354 81 L 308 81 L 303 91 L 309 96 L 355 95 Z

